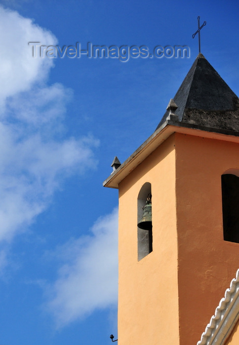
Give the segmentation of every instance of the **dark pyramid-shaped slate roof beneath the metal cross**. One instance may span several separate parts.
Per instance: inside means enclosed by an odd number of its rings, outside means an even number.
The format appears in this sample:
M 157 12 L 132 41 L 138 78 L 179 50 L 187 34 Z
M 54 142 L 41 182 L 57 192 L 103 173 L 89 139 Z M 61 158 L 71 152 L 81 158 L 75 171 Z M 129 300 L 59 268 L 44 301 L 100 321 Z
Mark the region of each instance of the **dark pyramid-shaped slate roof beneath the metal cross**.
M 202 54 L 197 56 L 173 101 L 180 122 L 239 132 L 239 98 Z M 168 115 L 166 111 L 157 129 Z

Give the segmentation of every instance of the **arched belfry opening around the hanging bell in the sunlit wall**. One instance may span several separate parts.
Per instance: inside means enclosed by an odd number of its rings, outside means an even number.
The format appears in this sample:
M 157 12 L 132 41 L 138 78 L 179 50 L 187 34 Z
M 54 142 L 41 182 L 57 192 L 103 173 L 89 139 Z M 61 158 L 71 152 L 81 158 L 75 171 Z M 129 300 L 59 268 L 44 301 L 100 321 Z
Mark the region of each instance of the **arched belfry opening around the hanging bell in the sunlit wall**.
M 147 198 L 151 198 L 151 183 L 146 182 L 140 189 L 138 195 L 138 221 L 140 222 L 143 216 Z M 153 251 L 153 235 L 152 228 L 150 230 L 140 229 L 138 227 L 138 261 L 143 259 L 146 255 Z

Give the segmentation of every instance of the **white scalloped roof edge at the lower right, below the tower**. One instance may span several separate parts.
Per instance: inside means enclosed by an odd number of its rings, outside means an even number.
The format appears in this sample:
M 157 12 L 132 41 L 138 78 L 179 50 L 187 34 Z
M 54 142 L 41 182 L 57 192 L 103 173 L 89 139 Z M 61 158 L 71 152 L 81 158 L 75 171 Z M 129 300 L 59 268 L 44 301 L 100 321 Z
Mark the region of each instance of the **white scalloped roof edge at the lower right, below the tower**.
M 239 269 L 197 345 L 223 345 L 239 320 Z

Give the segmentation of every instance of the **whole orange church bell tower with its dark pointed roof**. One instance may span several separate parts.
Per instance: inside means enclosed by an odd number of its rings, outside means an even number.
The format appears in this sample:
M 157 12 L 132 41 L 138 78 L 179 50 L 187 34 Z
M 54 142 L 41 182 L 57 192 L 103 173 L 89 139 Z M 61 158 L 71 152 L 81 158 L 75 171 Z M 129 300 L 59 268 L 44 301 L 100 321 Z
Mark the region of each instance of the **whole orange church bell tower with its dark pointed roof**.
M 239 99 L 202 54 L 104 186 L 119 189 L 118 344 L 197 345 L 239 268 Z

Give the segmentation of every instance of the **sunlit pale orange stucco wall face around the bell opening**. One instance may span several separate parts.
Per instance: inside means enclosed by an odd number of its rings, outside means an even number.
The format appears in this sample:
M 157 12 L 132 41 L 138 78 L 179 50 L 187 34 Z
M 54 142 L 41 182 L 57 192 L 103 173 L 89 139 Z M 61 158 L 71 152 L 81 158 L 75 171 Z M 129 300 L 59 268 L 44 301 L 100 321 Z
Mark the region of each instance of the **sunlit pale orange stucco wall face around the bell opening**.
M 153 252 L 137 260 L 137 197 L 152 184 Z M 178 345 L 174 135 L 119 186 L 119 345 Z

